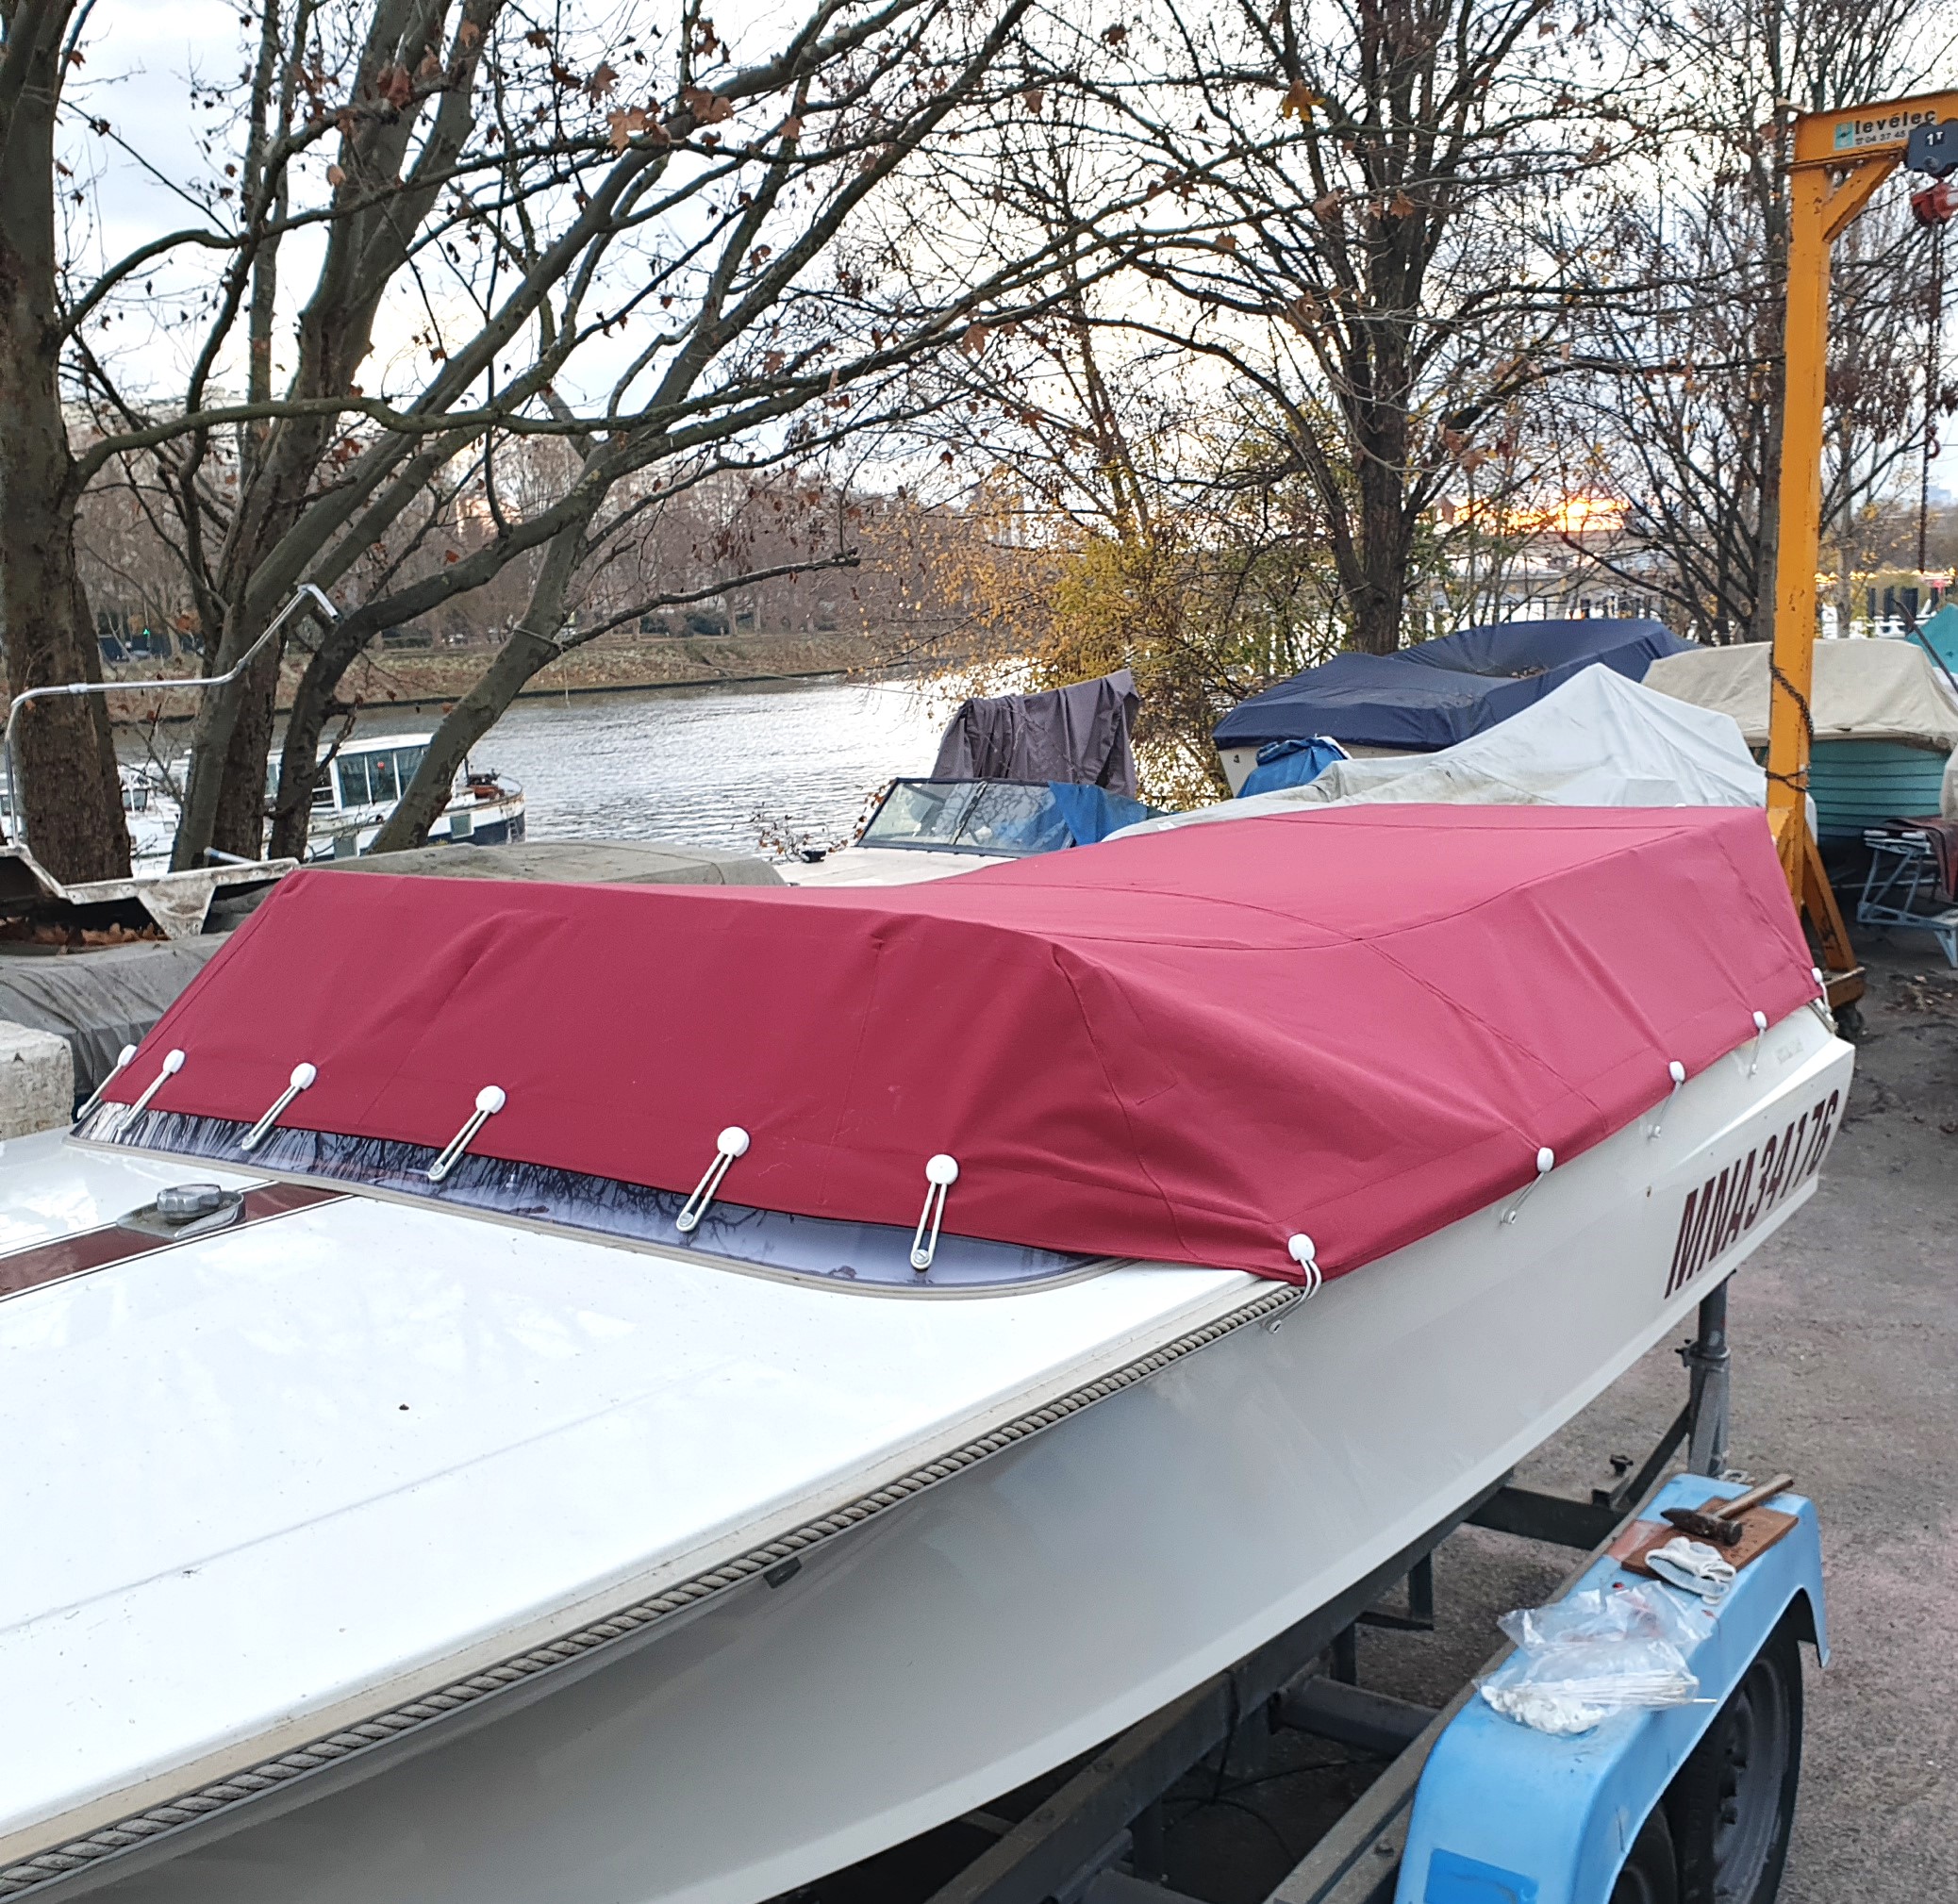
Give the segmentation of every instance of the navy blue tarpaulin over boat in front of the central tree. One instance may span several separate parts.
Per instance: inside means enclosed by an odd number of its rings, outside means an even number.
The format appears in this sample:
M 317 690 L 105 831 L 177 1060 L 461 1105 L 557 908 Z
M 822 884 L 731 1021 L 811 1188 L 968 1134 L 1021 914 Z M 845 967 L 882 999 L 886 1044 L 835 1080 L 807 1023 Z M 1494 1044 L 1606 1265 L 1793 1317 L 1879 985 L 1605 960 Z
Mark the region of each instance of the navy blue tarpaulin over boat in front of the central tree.
M 1592 616 L 1494 622 L 1400 654 L 1343 654 L 1232 708 L 1220 748 L 1329 734 L 1353 748 L 1453 748 L 1602 661 L 1641 681 L 1660 656 L 1692 648 L 1660 622 Z

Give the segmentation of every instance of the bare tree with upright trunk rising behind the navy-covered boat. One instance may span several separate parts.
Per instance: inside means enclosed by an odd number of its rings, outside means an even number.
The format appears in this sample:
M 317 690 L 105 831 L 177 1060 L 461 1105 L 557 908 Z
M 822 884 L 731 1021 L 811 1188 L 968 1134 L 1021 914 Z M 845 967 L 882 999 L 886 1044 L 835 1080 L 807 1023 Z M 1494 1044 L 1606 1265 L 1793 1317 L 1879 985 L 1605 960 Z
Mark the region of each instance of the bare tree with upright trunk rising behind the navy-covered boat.
M 1132 260 L 1145 323 L 1222 366 L 1316 497 L 1347 640 L 1400 642 L 1435 505 L 1521 468 L 1562 370 L 1588 166 L 1629 149 L 1641 74 L 1553 0 L 1171 6 L 1106 100 L 1159 168 Z

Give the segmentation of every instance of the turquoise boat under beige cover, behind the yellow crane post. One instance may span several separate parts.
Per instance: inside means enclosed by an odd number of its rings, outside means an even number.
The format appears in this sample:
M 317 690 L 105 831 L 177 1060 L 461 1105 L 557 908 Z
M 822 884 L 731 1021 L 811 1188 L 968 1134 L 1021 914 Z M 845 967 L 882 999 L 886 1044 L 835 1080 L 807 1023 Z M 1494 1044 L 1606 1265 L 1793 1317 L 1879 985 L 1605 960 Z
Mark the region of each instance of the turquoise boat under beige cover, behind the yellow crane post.
M 1647 685 L 1727 714 L 1750 748 L 1768 746 L 1766 642 L 1700 648 L 1655 661 Z M 1809 796 L 1819 839 L 1860 839 L 1886 820 L 1958 818 L 1958 693 L 1917 642 L 1815 644 Z

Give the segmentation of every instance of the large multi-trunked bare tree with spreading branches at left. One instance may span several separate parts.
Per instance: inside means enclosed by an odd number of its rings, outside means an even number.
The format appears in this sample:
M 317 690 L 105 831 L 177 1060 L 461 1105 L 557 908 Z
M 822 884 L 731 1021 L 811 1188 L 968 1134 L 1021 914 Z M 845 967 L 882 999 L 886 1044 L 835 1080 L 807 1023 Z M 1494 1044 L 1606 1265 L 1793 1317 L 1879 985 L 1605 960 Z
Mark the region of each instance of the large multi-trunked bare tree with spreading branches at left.
M 511 564 L 525 577 L 509 638 L 437 736 L 396 843 L 441 808 L 470 730 L 570 640 L 695 597 L 693 581 L 648 579 L 611 616 L 574 622 L 580 591 L 615 583 L 619 550 L 644 548 L 676 497 L 726 472 L 811 464 L 910 415 L 924 401 L 910 366 L 975 315 L 1038 303 L 1038 247 L 1004 249 L 975 215 L 936 235 L 920 270 L 914 233 L 879 215 L 907 166 L 993 137 L 999 102 L 1036 65 L 1028 4 L 813 0 L 742 49 L 697 0 L 619 0 L 599 22 L 568 10 L 548 23 L 507 0 L 258 0 L 241 16 L 239 86 L 194 84 L 215 112 L 210 176 L 184 186 L 198 217 L 92 272 L 86 245 L 65 260 L 47 247 L 55 346 L 35 374 L 43 436 L 69 456 L 57 515 L 72 528 L 98 477 L 139 499 L 182 564 L 213 671 L 253 652 L 300 581 L 341 595 L 347 612 L 305 644 L 276 845 L 303 824 L 339 683 L 380 630 L 448 611 Z M 88 18 L 51 0 L 39 12 Z M 10 27 L 10 70 L 16 43 Z M 116 147 L 108 119 L 86 127 Z M 45 207 L 55 160 L 41 157 Z M 155 337 L 166 323 L 159 280 L 174 286 L 170 329 L 192 358 L 174 389 L 155 352 L 102 346 L 112 325 Z M 63 395 L 88 417 L 74 452 Z M 536 454 L 546 440 L 554 460 Z M 548 493 L 519 497 L 546 472 Z M 482 505 L 480 532 L 462 532 L 466 499 Z M 14 526 L 0 522 L 10 577 L 29 573 Z M 713 589 L 779 567 L 728 558 Z M 813 560 L 852 558 L 834 544 Z M 69 593 L 63 675 L 94 656 Z M 204 699 L 178 865 L 260 851 L 278 679 L 274 646 Z M 33 751 L 27 789 L 72 759 L 67 742 Z M 114 814 L 90 828 L 92 851 L 121 851 Z

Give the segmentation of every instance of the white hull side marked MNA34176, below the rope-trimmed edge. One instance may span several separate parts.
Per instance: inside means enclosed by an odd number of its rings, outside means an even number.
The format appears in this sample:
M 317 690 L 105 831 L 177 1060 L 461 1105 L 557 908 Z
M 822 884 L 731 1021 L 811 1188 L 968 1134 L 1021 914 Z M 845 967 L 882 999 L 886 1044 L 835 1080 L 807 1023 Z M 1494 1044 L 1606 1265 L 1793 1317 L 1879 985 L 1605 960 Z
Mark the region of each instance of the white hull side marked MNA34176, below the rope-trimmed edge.
M 1848 1070 L 1799 1012 L 1515 1221 L 1482 1211 L 1341 1278 L 781 1585 L 59 1892 L 752 1904 L 957 1816 L 1312 1612 L 1555 1432 L 1813 1192 Z

